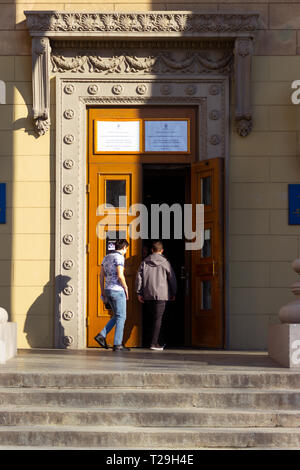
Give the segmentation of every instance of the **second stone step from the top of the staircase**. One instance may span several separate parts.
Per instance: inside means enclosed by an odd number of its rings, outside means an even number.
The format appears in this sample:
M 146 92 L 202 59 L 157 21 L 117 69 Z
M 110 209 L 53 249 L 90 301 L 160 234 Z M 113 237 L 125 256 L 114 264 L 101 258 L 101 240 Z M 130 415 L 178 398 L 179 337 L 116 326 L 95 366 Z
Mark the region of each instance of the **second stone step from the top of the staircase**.
M 128 408 L 300 409 L 300 390 L 260 389 L 0 389 L 0 405 Z

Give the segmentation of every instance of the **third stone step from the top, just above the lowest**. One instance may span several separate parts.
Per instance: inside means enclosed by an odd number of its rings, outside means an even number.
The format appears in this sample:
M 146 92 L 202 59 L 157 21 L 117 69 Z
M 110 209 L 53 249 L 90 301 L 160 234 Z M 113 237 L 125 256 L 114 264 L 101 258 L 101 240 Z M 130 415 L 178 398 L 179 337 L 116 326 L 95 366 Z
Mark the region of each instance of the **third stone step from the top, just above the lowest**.
M 300 411 L 199 408 L 0 407 L 0 426 L 300 427 Z

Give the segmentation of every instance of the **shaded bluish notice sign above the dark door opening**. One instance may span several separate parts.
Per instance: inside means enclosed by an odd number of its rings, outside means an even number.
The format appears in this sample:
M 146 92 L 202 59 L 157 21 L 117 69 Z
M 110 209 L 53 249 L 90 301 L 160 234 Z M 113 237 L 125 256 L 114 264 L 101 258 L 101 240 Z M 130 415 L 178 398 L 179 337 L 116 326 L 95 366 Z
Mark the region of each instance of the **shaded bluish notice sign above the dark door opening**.
M 188 150 L 188 121 L 145 121 L 146 152 Z

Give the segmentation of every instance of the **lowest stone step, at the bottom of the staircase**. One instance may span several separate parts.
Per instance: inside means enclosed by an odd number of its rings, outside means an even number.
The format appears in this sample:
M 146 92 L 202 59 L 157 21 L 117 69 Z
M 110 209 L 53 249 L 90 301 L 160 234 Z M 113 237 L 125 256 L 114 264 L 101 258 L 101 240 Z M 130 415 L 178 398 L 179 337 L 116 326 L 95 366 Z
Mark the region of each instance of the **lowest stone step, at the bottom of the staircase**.
M 299 448 L 295 428 L 0 426 L 0 445 L 81 448 Z

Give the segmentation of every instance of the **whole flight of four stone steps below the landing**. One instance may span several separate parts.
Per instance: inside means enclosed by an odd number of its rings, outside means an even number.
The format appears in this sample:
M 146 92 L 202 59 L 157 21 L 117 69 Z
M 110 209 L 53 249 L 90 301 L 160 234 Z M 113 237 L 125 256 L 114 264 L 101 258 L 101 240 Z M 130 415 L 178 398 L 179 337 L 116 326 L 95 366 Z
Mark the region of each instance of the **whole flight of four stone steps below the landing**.
M 0 370 L 0 448 L 299 449 L 300 373 Z

